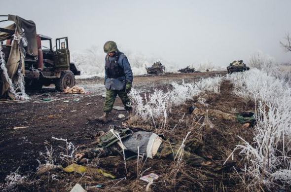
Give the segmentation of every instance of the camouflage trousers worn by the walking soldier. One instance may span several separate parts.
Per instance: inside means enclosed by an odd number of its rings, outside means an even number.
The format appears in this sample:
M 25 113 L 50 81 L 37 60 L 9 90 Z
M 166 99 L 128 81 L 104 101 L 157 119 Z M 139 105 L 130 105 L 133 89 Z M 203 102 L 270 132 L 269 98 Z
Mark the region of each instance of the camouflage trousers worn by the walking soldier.
M 118 90 L 107 89 L 105 103 L 104 103 L 104 107 L 103 107 L 104 112 L 111 112 L 115 98 L 117 95 L 121 99 L 121 101 L 124 105 L 124 109 L 131 110 L 131 108 L 127 106 L 129 104 L 129 97 L 128 97 L 127 93 L 125 92 L 125 90 L 118 91 Z

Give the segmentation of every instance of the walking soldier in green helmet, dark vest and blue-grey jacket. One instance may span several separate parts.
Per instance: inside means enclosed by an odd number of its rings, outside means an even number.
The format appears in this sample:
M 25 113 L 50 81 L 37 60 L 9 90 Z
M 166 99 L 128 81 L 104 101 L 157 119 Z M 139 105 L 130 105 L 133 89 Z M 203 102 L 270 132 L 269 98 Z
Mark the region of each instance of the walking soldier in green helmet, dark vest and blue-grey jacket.
M 132 86 L 133 75 L 127 57 L 117 49 L 114 41 L 107 41 L 104 44 L 104 52 L 107 53 L 104 81 L 106 98 L 103 107 L 104 114 L 97 120 L 106 123 L 117 95 L 121 99 L 125 110 L 131 111 L 131 108 L 128 107 L 129 97 L 127 94 Z

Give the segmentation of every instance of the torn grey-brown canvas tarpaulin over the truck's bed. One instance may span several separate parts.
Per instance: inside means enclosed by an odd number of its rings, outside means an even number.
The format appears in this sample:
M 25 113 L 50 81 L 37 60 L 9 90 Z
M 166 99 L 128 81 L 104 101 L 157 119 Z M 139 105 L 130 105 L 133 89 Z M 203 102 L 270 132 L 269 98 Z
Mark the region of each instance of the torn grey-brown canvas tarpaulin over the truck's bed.
M 17 72 L 21 69 L 22 74 L 24 74 L 24 57 L 25 55 L 36 56 L 38 55 L 37 50 L 37 40 L 36 40 L 36 25 L 33 21 L 25 20 L 19 16 L 8 15 L 8 20 L 15 22 L 12 25 L 5 27 L 5 29 L 13 30 L 14 34 L 8 34 L 1 32 L 0 40 L 5 40 L 14 36 L 8 60 L 6 61 L 6 75 L 0 73 L 1 87 L 0 87 L 0 98 L 10 98 L 16 99 L 15 94 L 13 95 L 11 90 L 11 83 L 9 83 L 8 78 L 12 80 L 13 84 L 16 84 L 15 90 L 18 89 L 22 78 L 18 78 L 19 74 Z M 3 63 L 1 61 L 1 63 Z M 21 73 L 20 72 L 20 73 Z M 8 77 L 7 77 L 8 74 Z

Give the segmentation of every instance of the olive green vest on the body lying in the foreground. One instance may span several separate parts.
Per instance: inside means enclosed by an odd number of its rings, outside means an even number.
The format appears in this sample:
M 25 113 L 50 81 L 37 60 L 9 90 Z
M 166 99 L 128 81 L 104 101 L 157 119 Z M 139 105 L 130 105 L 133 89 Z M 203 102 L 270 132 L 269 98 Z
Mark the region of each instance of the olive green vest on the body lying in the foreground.
M 129 128 L 126 128 L 126 129 L 114 130 L 114 133 L 115 134 L 117 133 L 119 137 L 123 139 L 123 138 L 128 137 L 132 133 L 132 131 Z M 98 147 L 107 148 L 117 141 L 119 141 L 119 139 L 115 137 L 111 131 L 108 131 L 100 137 Z

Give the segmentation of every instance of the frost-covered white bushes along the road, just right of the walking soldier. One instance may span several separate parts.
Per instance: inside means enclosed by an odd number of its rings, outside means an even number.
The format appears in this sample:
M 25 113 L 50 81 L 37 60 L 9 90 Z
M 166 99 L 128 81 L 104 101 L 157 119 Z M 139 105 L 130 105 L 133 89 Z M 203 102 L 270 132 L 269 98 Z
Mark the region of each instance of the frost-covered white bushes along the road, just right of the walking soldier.
M 144 96 L 140 92 L 133 89 L 129 96 L 131 98 L 131 106 L 136 118 L 144 121 L 153 121 L 156 126 L 156 121 L 165 126 L 168 122 L 168 115 L 172 107 L 184 103 L 187 99 L 192 99 L 203 91 L 218 93 L 222 77 L 201 79 L 194 83 L 178 84 L 172 83 L 173 89 L 168 92 L 162 90 L 154 90 L 153 93 Z

